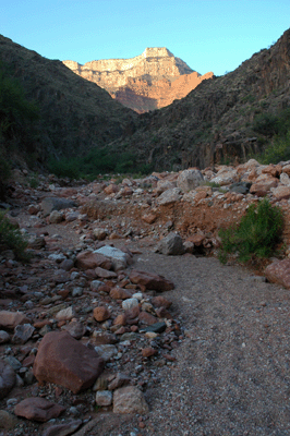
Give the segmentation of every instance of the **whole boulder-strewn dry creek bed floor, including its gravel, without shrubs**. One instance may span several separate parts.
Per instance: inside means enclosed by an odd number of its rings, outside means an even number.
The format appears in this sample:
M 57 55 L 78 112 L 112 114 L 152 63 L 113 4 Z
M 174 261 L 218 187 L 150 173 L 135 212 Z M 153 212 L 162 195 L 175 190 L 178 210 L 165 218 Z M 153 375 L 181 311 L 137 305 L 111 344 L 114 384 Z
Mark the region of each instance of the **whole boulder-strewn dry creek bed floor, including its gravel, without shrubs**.
M 202 435 L 214 431 L 213 416 L 221 433 L 256 434 L 258 425 L 264 435 L 265 407 L 271 433 L 289 428 L 280 413 L 289 384 L 277 372 L 287 368 L 288 291 L 265 275 L 290 289 L 290 261 L 270 259 L 250 277 L 204 257 L 216 253 L 218 229 L 261 196 L 283 209 L 289 247 L 289 174 L 290 162 L 251 159 L 120 184 L 39 175 L 28 189 L 29 174 L 15 170 L 1 206 L 33 258 L 0 253 L 3 436 L 173 436 L 177 426 Z

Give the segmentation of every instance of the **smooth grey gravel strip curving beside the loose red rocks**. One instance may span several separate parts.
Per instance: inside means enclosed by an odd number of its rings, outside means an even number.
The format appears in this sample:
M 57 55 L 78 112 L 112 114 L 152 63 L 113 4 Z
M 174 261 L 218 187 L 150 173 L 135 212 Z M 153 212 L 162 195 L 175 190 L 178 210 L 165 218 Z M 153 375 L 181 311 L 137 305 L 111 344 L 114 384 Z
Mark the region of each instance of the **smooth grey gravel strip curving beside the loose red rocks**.
M 186 338 L 145 392 L 144 428 L 110 435 L 289 435 L 289 291 L 216 258 L 142 252 L 138 269 L 176 283 L 164 295 Z

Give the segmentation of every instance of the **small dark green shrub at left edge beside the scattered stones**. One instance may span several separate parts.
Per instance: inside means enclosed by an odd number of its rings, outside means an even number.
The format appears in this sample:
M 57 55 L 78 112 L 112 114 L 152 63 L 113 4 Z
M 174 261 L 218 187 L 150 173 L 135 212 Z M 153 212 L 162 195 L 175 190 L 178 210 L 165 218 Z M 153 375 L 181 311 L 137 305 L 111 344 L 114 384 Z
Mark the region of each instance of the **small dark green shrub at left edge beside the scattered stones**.
M 12 250 L 19 261 L 27 262 L 29 259 L 25 251 L 27 244 L 21 231 L 5 217 L 5 211 L 0 210 L 0 252 Z

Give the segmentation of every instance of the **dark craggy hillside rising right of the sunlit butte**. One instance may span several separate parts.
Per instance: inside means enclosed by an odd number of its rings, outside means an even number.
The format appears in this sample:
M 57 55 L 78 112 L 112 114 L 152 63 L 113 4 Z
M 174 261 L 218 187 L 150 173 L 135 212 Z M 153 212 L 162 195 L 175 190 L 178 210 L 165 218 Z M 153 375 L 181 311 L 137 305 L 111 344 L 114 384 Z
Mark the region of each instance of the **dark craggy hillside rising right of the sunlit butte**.
M 290 29 L 233 72 L 203 81 L 185 98 L 142 114 L 135 134 L 122 144 L 159 169 L 241 162 L 263 146 L 252 130 L 255 117 L 290 106 L 289 80 Z

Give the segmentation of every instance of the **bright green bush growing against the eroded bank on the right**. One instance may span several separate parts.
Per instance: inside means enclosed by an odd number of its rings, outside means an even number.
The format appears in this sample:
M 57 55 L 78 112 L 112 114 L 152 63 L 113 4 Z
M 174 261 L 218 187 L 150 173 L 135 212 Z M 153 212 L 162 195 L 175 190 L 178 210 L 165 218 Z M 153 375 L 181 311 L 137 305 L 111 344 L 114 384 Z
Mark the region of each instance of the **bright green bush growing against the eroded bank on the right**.
M 282 211 L 267 198 L 251 205 L 239 225 L 219 231 L 221 247 L 219 259 L 226 263 L 229 253 L 238 253 L 239 261 L 269 257 L 281 242 Z

